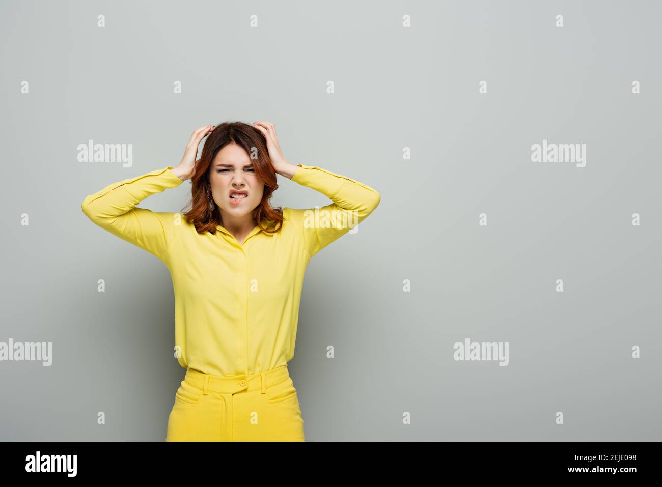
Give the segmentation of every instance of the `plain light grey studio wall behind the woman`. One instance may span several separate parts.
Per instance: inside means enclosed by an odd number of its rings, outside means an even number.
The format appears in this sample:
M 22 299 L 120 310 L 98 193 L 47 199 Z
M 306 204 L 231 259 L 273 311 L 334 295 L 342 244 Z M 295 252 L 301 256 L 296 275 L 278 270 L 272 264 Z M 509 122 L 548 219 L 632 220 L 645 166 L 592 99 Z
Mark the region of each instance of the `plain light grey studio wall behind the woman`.
M 169 273 L 81 202 L 176 166 L 195 128 L 224 120 L 269 120 L 291 163 L 381 193 L 308 265 L 289 363 L 308 441 L 662 439 L 661 13 L 3 1 L 0 341 L 52 341 L 54 363 L 0 362 L 0 439 L 165 438 L 185 373 Z M 532 163 L 544 138 L 587 144 L 586 167 Z M 88 139 L 133 144 L 133 166 L 77 162 Z M 328 202 L 279 184 L 275 204 Z M 140 206 L 176 212 L 189 195 L 184 183 Z M 454 361 L 465 337 L 508 341 L 510 364 Z

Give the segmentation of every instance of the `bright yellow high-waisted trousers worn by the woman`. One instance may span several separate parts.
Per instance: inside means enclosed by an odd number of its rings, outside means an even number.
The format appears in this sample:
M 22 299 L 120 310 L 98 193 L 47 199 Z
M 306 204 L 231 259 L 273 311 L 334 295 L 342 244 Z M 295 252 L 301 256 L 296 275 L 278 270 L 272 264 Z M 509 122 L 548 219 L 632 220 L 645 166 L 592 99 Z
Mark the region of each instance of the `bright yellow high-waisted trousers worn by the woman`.
M 187 369 L 175 393 L 166 441 L 305 441 L 287 364 L 237 376 Z

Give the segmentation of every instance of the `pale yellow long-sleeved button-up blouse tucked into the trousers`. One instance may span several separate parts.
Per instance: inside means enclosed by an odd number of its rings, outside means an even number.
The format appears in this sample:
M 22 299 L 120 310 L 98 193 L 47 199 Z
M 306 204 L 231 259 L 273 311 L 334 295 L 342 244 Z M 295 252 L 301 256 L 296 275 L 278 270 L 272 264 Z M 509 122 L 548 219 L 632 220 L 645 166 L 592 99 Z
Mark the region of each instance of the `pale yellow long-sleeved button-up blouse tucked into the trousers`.
M 291 180 L 332 203 L 308 210 L 284 207 L 279 232 L 256 227 L 243 244 L 220 225 L 215 235 L 201 235 L 181 213 L 136 206 L 183 183 L 171 166 L 113 183 L 83 201 L 92 222 L 166 264 L 175 292 L 175 356 L 181 367 L 223 376 L 254 374 L 294 357 L 308 260 L 363 221 L 381 199 L 354 179 L 298 166 Z

